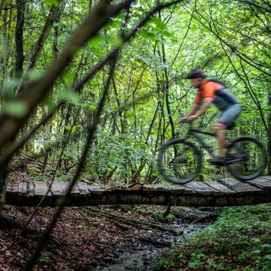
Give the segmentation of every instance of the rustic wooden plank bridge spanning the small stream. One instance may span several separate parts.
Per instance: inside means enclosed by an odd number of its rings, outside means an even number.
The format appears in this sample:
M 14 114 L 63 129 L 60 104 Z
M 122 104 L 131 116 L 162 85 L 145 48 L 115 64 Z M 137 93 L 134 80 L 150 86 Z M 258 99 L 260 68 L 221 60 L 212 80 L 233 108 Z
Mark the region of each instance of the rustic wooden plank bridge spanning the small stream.
M 55 181 L 42 206 L 56 207 L 67 190 L 67 182 Z M 46 182 L 9 184 L 6 204 L 36 206 L 48 190 Z M 246 183 L 235 179 L 192 181 L 182 186 L 143 185 L 133 183 L 116 187 L 90 186 L 76 183 L 68 206 L 106 204 L 158 204 L 176 206 L 234 206 L 271 202 L 271 176 L 263 176 Z

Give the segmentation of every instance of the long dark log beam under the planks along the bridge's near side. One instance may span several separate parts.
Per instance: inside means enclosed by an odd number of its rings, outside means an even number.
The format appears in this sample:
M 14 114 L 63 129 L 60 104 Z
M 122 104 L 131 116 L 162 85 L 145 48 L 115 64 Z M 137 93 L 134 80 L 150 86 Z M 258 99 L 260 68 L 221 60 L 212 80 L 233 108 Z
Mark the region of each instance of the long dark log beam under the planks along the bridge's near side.
M 145 195 L 144 195 L 145 194 Z M 68 207 L 113 205 L 113 204 L 154 204 L 164 206 L 190 206 L 190 207 L 222 207 L 271 202 L 271 195 L 259 197 L 258 195 L 242 196 L 204 196 L 204 195 L 159 195 L 158 193 L 104 193 L 90 197 L 71 197 Z M 39 203 L 39 197 L 8 197 L 6 204 L 33 207 Z M 57 207 L 57 197 L 48 197 L 43 207 Z

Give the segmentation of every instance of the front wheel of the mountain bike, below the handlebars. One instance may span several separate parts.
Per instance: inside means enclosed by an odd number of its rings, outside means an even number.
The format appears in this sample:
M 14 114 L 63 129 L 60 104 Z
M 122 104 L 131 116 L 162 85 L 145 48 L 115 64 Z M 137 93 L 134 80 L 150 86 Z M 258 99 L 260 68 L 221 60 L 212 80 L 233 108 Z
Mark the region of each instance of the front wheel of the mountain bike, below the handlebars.
M 181 184 L 197 177 L 202 167 L 202 156 L 194 144 L 183 139 L 172 139 L 160 148 L 157 162 L 162 177 Z

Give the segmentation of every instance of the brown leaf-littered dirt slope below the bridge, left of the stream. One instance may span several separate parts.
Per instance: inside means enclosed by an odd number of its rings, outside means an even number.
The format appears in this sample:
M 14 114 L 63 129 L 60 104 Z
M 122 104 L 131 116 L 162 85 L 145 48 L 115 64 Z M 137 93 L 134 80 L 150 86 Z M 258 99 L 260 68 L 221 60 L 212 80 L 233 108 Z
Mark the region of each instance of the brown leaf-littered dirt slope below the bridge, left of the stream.
M 15 176 L 21 181 L 26 176 Z M 55 225 L 34 270 L 91 270 L 106 256 L 125 251 L 135 241 L 148 242 L 151 235 L 174 231 L 174 225 L 161 223 L 157 216 L 166 207 L 105 206 L 67 207 Z M 21 270 L 46 229 L 54 208 L 40 208 L 27 228 L 22 231 L 34 208 L 6 205 L 0 212 L 0 270 Z M 181 221 L 198 221 L 197 211 L 173 209 Z M 125 221 L 125 218 L 132 219 Z M 139 223 L 137 223 L 139 221 Z M 143 223 L 143 224 L 141 224 Z M 152 227 L 147 223 L 160 225 Z M 20 234 L 13 244 L 16 235 Z M 142 241 L 143 240 L 143 241 Z M 12 246 L 11 246 L 12 244 Z M 164 244 L 158 244 L 163 246 Z

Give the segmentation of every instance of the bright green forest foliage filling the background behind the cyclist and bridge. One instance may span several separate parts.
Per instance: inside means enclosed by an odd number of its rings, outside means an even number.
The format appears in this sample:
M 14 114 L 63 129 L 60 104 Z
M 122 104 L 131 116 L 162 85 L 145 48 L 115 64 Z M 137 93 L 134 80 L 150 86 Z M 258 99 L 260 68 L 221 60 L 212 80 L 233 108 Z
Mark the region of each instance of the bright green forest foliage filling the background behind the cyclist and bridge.
M 59 105 L 52 118 L 20 148 L 41 160 L 38 172 L 52 172 L 59 165 L 60 179 L 74 174 L 114 60 L 80 88 L 78 83 L 114 48 L 119 48 L 116 67 L 83 178 L 93 183 L 160 181 L 155 155 L 167 139 L 176 132 L 181 136 L 186 130 L 177 123 L 195 100 L 195 90 L 184 79 L 195 67 L 204 69 L 209 78 L 224 81 L 241 102 L 242 115 L 231 136 L 257 137 L 267 148 L 270 160 L 268 1 L 179 1 L 155 13 L 141 29 L 137 29 L 137 23 L 159 1 L 131 2 L 78 48 L 46 98 L 20 128 L 16 141 Z M 1 111 L 3 116 L 20 120 L 27 116 L 28 108 L 18 97 L 27 92 L 29 85 L 39 83 L 98 1 L 0 3 Z M 134 29 L 138 32 L 123 44 L 124 37 Z M 218 112 L 211 108 L 197 125 L 211 130 L 217 117 Z M 270 167 L 268 170 L 270 173 Z M 225 174 L 223 169 L 205 167 L 201 177 L 216 179 Z M 39 174 L 36 176 L 41 179 Z

